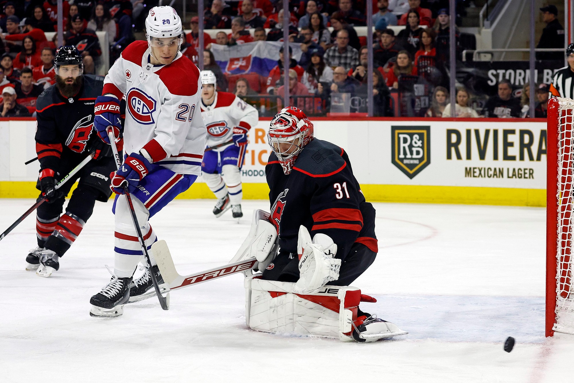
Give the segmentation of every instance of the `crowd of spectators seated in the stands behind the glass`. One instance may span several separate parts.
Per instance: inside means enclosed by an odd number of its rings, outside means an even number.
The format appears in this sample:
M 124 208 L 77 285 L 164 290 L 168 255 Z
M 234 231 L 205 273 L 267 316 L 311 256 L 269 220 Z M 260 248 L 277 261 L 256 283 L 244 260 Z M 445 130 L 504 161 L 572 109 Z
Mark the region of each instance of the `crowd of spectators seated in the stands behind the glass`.
M 367 1 L 373 2 L 372 15 L 367 15 Z M 444 68 L 449 61 L 448 3 L 448 0 L 290 0 L 289 25 L 285 26 L 279 0 L 206 0 L 204 29 L 219 32 L 213 38 L 203 33 L 203 66 L 214 71 L 218 90 L 232 91 L 270 114 L 284 102 L 287 60 L 292 96 L 289 103 L 302 106 L 309 114 L 329 112 L 333 97 L 340 97 L 338 94 L 351 98 L 347 107 L 350 112 L 366 113 L 367 94 L 372 92 L 375 116 L 449 117 L 448 75 Z M 457 1 L 457 18 L 467 3 Z M 96 32 L 107 32 L 113 62 L 134 40 L 134 31 L 144 28 L 146 10 L 155 5 L 158 0 L 63 0 L 64 43 L 75 45 L 82 53 L 84 73 L 94 73 L 102 61 Z M 541 39 L 542 45 L 546 40 L 552 41 L 551 32 L 559 28 L 554 8 L 545 8 L 544 20 L 549 27 L 545 29 L 546 37 Z M 366 37 L 358 36 L 356 30 L 367 25 L 367 17 L 372 18 L 375 27 L 372 47 L 367 46 Z M 57 22 L 57 0 L 0 0 L 3 117 L 33 113 L 37 95 L 55 83 L 53 58 L 57 35 L 47 39 L 45 33 L 54 32 Z M 187 26 L 191 32 L 185 35 L 181 52 L 197 63 L 199 17 L 193 17 Z M 404 29 L 395 33 L 390 26 Z M 300 44 L 301 57 L 294 59 L 292 48 L 285 57 L 281 48 L 279 60 L 266 78 L 254 73 L 231 75 L 215 62 L 213 45 L 282 41 L 284 28 L 288 28 L 289 41 Z M 458 28 L 455 36 L 460 59 Z M 373 89 L 367 85 L 369 51 L 373 52 Z M 509 82 L 503 80 L 497 86 L 498 94 L 480 105 L 471 91 L 457 89 L 456 116 L 528 116 L 526 91 L 522 91 L 522 98 L 517 98 L 521 92 L 515 91 Z M 544 84 L 537 85 L 536 117 L 545 116 L 547 90 Z

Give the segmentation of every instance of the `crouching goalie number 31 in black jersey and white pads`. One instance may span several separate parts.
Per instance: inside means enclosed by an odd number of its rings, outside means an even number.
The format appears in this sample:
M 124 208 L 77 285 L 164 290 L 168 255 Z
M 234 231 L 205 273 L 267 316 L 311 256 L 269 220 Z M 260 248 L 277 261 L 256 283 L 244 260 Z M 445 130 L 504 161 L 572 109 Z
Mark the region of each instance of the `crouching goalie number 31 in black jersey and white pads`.
M 271 210 L 254 213 L 250 235 L 232 259 L 255 256 L 262 271 L 245 279 L 247 325 L 358 342 L 406 334 L 359 308 L 376 300 L 350 286 L 378 248 L 375 209 L 346 152 L 313 137 L 312 122 L 294 107 L 273 118 L 267 139 Z

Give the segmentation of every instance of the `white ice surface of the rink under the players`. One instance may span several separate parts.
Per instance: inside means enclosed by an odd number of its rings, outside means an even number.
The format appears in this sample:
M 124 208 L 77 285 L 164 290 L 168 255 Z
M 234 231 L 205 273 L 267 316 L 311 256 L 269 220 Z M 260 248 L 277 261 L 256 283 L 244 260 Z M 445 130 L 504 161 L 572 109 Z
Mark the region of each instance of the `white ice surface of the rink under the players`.
M 181 274 L 227 263 L 241 224 L 215 200 L 177 200 L 152 218 Z M 0 200 L 3 230 L 32 200 Z M 566 382 L 574 337 L 544 338 L 545 210 L 374 204 L 379 255 L 354 286 L 362 309 L 409 335 L 377 343 L 247 330 L 241 275 L 88 315 L 113 265 L 111 204 L 94 215 L 50 278 L 24 270 L 36 246 L 30 216 L 0 242 L 0 382 Z M 517 341 L 503 351 L 507 336 Z M 569 378 L 566 378 L 566 377 Z

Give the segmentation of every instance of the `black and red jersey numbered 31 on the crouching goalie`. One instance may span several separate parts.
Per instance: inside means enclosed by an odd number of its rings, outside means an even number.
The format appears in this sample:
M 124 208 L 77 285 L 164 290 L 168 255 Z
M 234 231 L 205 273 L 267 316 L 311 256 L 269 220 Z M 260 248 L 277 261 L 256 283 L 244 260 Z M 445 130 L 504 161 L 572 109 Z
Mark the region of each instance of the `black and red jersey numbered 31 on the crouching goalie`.
M 278 227 L 282 252 L 297 252 L 300 225 L 312 237 L 331 237 L 338 248 L 336 258 L 344 260 L 355 242 L 378 251 L 375 209 L 364 200 L 342 148 L 314 139 L 298 155 L 290 174 L 283 173 L 274 153 L 265 171 L 271 220 Z

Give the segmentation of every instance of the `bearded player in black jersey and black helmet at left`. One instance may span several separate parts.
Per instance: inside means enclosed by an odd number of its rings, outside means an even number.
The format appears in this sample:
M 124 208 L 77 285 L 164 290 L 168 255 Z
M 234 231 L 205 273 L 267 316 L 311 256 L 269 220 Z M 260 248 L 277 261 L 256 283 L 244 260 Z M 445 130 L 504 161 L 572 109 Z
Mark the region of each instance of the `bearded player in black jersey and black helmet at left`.
M 94 101 L 102 93 L 103 77 L 83 75 L 82 55 L 73 46 L 61 47 L 55 59 L 56 84 L 40 94 L 36 104 L 36 152 L 40 175 L 36 187 L 48 197 L 36 210 L 38 246 L 26 256 L 26 270 L 49 277 L 60 269 L 60 258 L 90 219 L 95 201 L 110 198 L 110 171 L 115 169 L 110 147 L 94 126 Z M 55 185 L 89 152 L 94 158 L 60 189 Z M 78 186 L 61 215 L 73 181 Z

